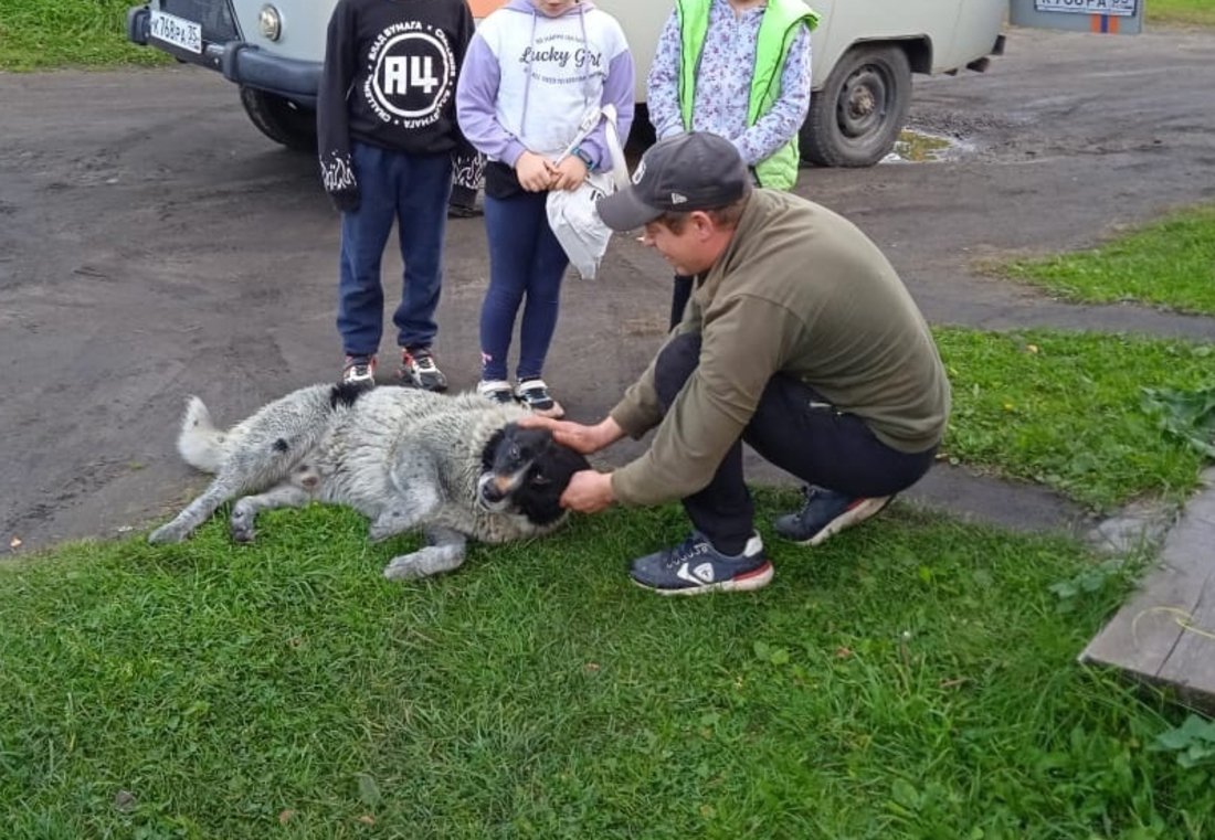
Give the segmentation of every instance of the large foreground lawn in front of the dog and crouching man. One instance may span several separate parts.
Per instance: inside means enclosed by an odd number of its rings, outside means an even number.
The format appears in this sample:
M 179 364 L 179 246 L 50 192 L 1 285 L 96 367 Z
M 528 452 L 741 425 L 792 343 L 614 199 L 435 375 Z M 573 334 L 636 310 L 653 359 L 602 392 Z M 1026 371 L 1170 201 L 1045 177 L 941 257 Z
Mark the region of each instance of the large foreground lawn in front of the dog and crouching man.
M 795 501 L 761 494 L 764 521 Z M 1210 756 L 1157 748 L 1194 737 L 1183 714 L 1075 663 L 1125 571 L 897 506 L 772 541 L 753 596 L 634 588 L 626 561 L 684 527 L 578 517 L 405 585 L 379 569 L 406 541 L 320 507 L 253 546 L 216 518 L 0 567 L 5 836 L 1215 829 Z

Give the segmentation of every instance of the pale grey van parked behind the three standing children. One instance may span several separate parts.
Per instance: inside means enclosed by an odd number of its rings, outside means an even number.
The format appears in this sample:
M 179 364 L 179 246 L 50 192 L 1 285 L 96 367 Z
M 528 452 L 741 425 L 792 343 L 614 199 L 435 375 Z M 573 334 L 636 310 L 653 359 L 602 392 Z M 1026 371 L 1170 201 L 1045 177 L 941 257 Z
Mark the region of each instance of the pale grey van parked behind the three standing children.
M 481 18 L 503 0 L 469 0 Z M 316 90 L 337 0 L 149 0 L 128 12 L 128 38 L 219 70 L 262 134 L 313 149 Z M 645 74 L 672 2 L 597 0 L 625 28 L 638 64 L 645 138 Z M 911 104 L 912 73 L 987 69 L 1004 49 L 1007 0 L 813 0 L 814 95 L 802 157 L 870 166 L 894 146 Z M 650 129 L 652 136 L 652 129 Z

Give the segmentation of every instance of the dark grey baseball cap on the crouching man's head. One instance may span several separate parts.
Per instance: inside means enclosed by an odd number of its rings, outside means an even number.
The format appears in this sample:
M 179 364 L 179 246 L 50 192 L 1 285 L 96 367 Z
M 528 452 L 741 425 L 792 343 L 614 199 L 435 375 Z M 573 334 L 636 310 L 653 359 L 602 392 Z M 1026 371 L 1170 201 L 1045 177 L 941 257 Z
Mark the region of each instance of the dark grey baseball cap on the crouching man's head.
M 733 204 L 751 189 L 751 174 L 734 143 L 707 131 L 660 140 L 646 149 L 632 186 L 599 199 L 595 209 L 614 231 L 632 231 L 665 212 Z

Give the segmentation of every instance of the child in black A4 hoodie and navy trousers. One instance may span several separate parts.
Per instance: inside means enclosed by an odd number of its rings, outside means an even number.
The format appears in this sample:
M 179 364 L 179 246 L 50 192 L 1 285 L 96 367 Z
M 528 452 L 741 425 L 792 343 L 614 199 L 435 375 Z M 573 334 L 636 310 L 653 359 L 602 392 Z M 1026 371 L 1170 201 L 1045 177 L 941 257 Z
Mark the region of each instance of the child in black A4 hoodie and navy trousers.
M 475 155 L 456 125 L 456 80 L 473 30 L 465 0 L 339 0 L 333 10 L 317 146 L 326 192 L 341 211 L 345 382 L 374 382 L 384 327 L 380 262 L 396 221 L 405 261 L 392 314 L 397 375 L 428 391 L 447 388 L 431 346 L 452 159 Z

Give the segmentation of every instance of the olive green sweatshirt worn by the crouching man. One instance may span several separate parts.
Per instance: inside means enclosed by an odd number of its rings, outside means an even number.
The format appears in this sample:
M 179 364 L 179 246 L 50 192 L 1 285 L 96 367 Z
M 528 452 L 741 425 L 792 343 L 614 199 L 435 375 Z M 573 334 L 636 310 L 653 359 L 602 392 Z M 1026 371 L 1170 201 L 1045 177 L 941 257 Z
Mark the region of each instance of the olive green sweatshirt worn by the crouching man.
M 776 373 L 899 452 L 925 452 L 944 435 L 949 381 L 923 316 L 877 245 L 813 202 L 752 193 L 672 337 L 683 333 L 700 333 L 700 365 L 666 416 L 654 363 L 611 410 L 634 438 L 657 426 L 645 454 L 612 473 L 623 504 L 708 484 Z

